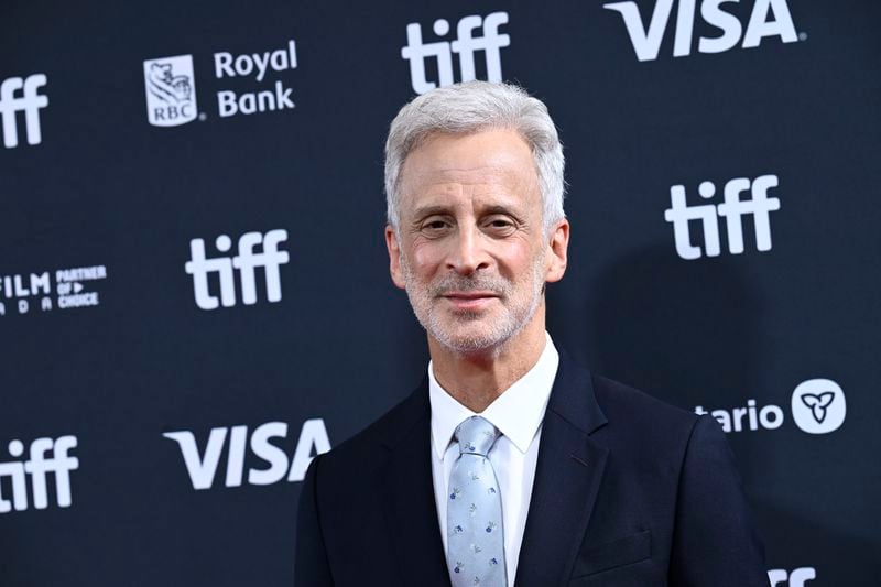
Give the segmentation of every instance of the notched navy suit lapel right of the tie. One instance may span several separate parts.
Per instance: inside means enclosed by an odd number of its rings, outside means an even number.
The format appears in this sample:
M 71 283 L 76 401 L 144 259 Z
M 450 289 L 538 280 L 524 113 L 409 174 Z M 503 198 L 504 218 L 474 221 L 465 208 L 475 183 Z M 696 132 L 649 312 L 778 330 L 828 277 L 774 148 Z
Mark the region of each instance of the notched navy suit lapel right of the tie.
M 605 424 L 590 373 L 561 350 L 542 425 L 516 587 L 563 585 L 572 574 L 609 453 L 590 434 Z

